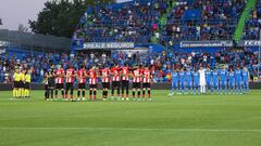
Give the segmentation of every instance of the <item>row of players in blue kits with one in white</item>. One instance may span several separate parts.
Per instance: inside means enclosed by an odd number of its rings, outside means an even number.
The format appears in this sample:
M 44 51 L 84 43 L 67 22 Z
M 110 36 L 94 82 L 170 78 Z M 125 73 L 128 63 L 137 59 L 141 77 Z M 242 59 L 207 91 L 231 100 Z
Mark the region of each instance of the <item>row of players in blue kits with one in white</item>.
M 202 76 L 200 72 L 203 72 Z M 207 69 L 200 67 L 199 70 L 173 69 L 172 72 L 172 92 L 174 94 L 200 94 L 210 92 L 217 94 L 243 94 L 249 91 L 249 72 L 247 67 L 243 69 L 225 66 L 222 69 L 213 69 L 208 66 Z

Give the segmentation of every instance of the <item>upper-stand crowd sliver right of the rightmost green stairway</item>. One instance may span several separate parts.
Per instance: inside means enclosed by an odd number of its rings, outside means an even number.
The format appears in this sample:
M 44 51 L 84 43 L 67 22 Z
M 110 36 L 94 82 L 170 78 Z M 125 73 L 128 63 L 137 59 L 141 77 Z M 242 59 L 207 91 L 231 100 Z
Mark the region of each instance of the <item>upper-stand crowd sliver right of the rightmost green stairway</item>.
M 261 31 L 261 0 L 257 1 L 257 6 L 252 11 L 250 18 L 246 22 L 244 39 L 259 40 Z

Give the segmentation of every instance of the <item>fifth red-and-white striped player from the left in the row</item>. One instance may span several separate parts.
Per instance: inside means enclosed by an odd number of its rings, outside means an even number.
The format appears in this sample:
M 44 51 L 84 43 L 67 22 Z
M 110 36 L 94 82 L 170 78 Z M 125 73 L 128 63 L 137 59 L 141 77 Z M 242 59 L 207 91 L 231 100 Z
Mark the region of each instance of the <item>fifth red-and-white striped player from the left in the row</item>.
M 100 70 L 102 81 L 102 97 L 103 101 L 108 97 L 108 90 L 110 89 L 110 69 L 108 67 Z

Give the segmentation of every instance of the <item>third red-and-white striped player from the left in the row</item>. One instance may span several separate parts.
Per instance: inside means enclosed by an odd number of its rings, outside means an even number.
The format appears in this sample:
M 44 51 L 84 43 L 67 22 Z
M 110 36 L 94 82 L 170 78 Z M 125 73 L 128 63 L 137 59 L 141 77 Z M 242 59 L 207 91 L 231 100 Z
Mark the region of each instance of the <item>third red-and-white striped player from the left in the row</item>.
M 77 71 L 78 76 L 78 93 L 77 93 L 77 101 L 80 101 L 80 92 L 83 96 L 83 101 L 85 101 L 85 82 L 86 82 L 86 70 L 85 65 L 80 66 L 80 69 Z

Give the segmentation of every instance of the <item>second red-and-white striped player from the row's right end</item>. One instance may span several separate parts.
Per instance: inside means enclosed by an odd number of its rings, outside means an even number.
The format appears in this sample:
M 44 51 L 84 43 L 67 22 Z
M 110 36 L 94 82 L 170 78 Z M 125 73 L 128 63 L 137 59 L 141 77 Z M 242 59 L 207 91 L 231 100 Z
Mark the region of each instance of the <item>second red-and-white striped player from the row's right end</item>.
M 133 101 L 135 101 L 135 92 L 138 92 L 138 101 L 140 101 L 140 77 L 141 77 L 141 67 L 137 67 L 133 70 Z

